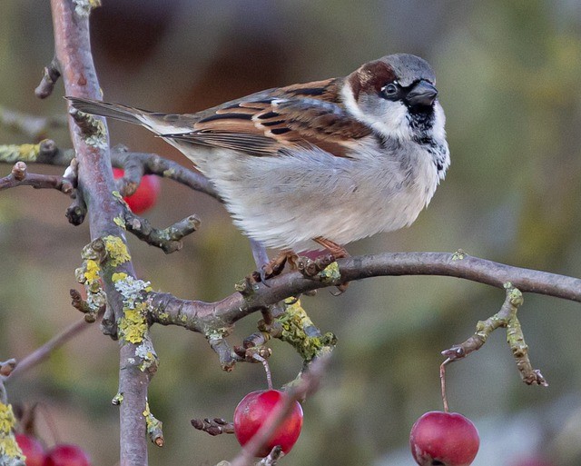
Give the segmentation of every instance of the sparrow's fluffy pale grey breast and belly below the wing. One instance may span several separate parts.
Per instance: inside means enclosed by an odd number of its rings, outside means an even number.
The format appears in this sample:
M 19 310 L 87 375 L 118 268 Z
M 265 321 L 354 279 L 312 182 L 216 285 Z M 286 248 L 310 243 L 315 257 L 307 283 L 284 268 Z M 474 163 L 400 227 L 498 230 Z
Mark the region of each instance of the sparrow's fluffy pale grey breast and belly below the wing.
M 188 154 L 215 184 L 234 223 L 267 247 L 346 244 L 412 223 L 438 184 L 419 147 L 359 147 L 350 157 L 317 148 L 252 157 L 232 151 Z

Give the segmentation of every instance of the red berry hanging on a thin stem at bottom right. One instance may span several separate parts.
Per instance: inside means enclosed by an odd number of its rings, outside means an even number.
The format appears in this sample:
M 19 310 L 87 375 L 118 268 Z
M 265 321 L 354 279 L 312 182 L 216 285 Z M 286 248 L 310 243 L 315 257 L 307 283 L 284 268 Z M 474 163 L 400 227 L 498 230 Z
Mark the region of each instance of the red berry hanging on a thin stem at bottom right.
M 426 412 L 409 434 L 411 454 L 420 466 L 468 466 L 479 444 L 476 427 L 458 412 Z

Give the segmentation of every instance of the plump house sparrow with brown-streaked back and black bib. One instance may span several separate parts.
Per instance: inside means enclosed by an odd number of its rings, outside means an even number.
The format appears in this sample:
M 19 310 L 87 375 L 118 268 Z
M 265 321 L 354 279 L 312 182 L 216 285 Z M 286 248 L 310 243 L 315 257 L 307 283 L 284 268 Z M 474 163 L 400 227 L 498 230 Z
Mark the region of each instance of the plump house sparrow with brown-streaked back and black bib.
M 177 147 L 266 247 L 341 245 L 413 223 L 449 165 L 434 73 L 388 55 L 346 77 L 269 89 L 196 114 L 67 97 Z

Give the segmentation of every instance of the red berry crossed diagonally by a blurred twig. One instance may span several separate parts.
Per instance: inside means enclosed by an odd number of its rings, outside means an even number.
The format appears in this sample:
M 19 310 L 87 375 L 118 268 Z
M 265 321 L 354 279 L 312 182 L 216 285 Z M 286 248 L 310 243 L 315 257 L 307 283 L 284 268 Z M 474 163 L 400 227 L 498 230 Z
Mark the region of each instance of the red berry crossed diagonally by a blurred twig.
M 251 440 L 285 396 L 278 390 L 261 390 L 251 392 L 242 398 L 234 410 L 234 433 L 242 446 Z M 280 445 L 282 451 L 288 453 L 299 438 L 301 427 L 302 408 L 299 402 L 294 402 L 289 417 L 281 423 L 257 456 L 267 456 L 276 445 Z

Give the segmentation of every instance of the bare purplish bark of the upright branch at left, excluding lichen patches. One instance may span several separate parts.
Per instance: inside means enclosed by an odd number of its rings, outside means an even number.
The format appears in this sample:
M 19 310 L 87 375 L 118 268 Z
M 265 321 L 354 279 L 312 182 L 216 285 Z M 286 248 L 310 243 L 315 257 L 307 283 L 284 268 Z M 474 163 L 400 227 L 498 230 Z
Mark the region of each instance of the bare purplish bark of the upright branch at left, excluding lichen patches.
M 89 40 L 89 13 L 96 2 L 90 0 L 51 0 L 54 23 L 55 57 L 60 64 L 65 93 L 68 95 L 101 98 L 94 69 Z M 125 243 L 123 230 L 113 218 L 120 215 L 121 206 L 113 196 L 113 174 L 109 156 L 108 135 L 103 121 L 101 141 L 90 140 L 71 117 L 69 118 L 79 167 L 79 193 L 88 206 L 89 225 L 93 240 L 106 236 L 120 238 Z M 123 297 L 115 290 L 114 273 L 134 276 L 133 264 L 128 259 L 103 270 L 104 290 L 116 320 L 123 316 Z M 148 333 L 148 332 L 147 332 Z M 149 335 L 144 335 L 149 340 Z M 139 367 L 137 344 L 123 342 L 120 350 L 119 392 L 121 466 L 147 465 L 146 409 L 147 388 L 152 372 Z

